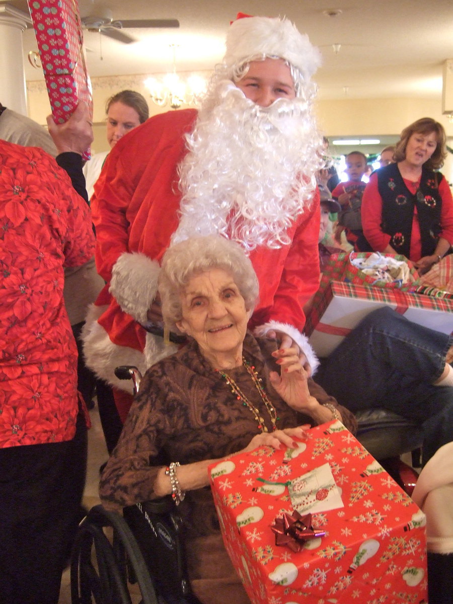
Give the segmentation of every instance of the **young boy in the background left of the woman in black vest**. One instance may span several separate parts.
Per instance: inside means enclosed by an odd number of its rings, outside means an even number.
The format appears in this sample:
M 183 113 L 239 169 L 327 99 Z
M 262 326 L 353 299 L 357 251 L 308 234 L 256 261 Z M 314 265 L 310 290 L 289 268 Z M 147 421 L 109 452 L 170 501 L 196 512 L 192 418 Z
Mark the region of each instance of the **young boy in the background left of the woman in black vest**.
M 349 181 L 340 182 L 332 191 L 333 199 L 341 205 L 338 213 L 338 228 L 335 238 L 338 241 L 344 230 L 347 241 L 354 246 L 355 251 L 373 251 L 364 237 L 360 208 L 365 182 L 362 176 L 367 170 L 367 158 L 361 151 L 352 151 L 346 156 L 346 170 Z

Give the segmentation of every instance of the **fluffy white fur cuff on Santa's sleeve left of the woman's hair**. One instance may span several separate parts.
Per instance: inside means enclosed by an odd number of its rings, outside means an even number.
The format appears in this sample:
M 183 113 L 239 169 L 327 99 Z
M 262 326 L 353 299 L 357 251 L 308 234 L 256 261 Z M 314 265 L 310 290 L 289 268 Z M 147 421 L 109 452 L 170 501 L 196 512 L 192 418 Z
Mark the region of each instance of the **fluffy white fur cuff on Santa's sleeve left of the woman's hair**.
M 160 267 L 145 254 L 124 252 L 112 269 L 109 292 L 121 309 L 146 323 L 147 312 L 156 297 Z

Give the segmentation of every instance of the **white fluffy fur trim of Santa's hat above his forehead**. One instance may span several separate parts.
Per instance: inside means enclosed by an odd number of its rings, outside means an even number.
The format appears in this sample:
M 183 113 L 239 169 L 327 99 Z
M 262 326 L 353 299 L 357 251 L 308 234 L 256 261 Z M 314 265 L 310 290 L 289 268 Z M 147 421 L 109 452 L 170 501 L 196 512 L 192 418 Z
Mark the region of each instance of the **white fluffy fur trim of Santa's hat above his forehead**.
M 226 34 L 223 63 L 241 65 L 260 55 L 288 61 L 306 82 L 321 65 L 320 51 L 288 19 L 246 17 L 234 21 Z

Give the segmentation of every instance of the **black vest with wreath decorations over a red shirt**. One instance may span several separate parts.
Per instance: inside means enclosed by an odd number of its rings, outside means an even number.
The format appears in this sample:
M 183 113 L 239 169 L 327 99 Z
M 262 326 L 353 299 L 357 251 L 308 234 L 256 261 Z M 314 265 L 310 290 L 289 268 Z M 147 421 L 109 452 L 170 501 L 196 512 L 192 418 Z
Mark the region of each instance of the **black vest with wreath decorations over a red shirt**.
M 417 194 L 411 193 L 400 175 L 397 164 L 377 170 L 377 187 L 382 198 L 381 229 L 390 235 L 390 245 L 407 258 L 411 249 L 414 208 L 419 217 L 422 257 L 434 254 L 441 231 L 439 194 L 440 172 L 423 168 Z

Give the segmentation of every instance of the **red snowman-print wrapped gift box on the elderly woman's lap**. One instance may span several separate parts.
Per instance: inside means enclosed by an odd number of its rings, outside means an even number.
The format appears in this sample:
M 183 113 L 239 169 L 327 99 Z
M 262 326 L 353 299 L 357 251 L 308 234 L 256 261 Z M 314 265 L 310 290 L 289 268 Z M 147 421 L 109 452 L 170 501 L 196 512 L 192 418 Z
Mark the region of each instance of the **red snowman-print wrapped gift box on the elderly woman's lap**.
M 320 478 L 326 464 L 333 485 Z M 427 602 L 425 515 L 340 422 L 310 429 L 297 449 L 231 456 L 210 476 L 223 541 L 252 604 Z M 328 508 L 330 489 L 342 504 L 312 513 L 325 535 L 297 552 L 276 545 L 271 528 L 294 512 L 289 482 L 304 513 Z

